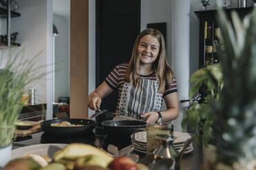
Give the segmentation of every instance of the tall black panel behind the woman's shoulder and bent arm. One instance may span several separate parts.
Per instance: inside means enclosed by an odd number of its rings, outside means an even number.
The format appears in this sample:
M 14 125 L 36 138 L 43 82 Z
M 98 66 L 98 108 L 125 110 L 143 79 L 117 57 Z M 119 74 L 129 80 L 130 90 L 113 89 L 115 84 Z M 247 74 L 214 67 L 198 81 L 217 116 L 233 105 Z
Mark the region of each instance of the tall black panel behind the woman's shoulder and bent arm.
M 96 86 L 114 66 L 129 62 L 140 33 L 140 1 L 96 1 Z M 118 92 L 105 97 L 100 108 L 116 112 Z

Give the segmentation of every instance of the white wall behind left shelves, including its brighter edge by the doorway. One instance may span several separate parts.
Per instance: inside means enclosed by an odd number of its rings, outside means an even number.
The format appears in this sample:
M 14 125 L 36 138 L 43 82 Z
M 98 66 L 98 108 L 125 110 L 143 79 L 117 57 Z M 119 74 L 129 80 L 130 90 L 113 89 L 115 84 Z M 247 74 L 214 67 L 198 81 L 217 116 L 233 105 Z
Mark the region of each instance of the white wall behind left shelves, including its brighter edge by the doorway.
M 32 60 L 34 56 L 42 52 L 38 58 L 35 68 L 39 72 L 49 73 L 52 71 L 52 0 L 16 0 L 19 6 L 20 17 L 11 19 L 11 33 L 19 32 L 16 42 L 21 43 L 21 47 L 0 49 L 3 60 L 8 57 L 8 51 L 23 54 L 24 60 Z M 1 21 L 3 23 L 5 19 Z M 5 24 L 5 23 L 3 23 Z M 1 25 L 2 26 L 2 25 Z M 23 56 L 22 56 L 23 55 Z M 52 117 L 52 74 L 47 74 L 37 84 L 30 84 L 29 88 L 36 89 L 36 102 L 47 103 L 46 118 Z

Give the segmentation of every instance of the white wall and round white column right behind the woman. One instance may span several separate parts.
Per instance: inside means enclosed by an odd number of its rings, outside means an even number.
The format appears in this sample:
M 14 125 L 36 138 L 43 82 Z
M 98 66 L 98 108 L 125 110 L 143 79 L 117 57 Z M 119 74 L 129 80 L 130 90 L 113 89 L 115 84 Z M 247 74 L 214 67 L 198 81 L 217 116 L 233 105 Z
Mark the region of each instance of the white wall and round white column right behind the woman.
M 184 7 L 189 7 L 188 1 L 164 0 L 159 3 L 153 0 L 142 0 L 141 4 L 141 29 L 145 29 L 147 23 L 167 23 L 167 60 L 175 73 L 179 100 L 187 98 L 189 88 L 189 18 L 186 11 L 183 10 Z M 175 8 L 179 8 L 179 10 Z M 189 10 L 187 11 L 189 12 Z M 173 14 L 173 12 L 176 13 Z M 177 37 L 178 35 L 179 37 Z M 179 118 L 173 121 L 177 131 L 182 131 L 180 124 L 183 110 L 181 107 Z M 162 110 L 166 110 L 165 104 Z

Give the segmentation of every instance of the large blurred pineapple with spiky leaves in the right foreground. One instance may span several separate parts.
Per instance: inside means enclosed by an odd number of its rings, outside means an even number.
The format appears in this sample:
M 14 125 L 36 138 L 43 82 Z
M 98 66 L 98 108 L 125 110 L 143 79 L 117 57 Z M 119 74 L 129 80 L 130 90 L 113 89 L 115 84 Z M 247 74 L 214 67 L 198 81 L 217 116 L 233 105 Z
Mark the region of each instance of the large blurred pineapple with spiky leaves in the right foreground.
M 225 53 L 224 88 L 212 107 L 217 162 L 245 166 L 256 158 L 256 8 L 243 23 L 232 12 L 234 29 L 223 10 L 218 14 Z

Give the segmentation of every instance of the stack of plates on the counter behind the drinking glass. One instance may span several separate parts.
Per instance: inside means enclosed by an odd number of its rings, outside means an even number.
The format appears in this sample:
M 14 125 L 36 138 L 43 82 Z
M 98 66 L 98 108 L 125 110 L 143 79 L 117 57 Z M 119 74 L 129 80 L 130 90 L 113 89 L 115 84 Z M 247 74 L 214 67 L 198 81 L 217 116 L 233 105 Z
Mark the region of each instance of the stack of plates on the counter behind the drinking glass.
M 173 132 L 173 136 L 176 137 L 175 140 L 173 141 L 173 147 L 177 151 L 182 149 L 187 139 L 191 138 L 191 136 L 188 133 L 184 133 L 184 132 Z M 146 131 L 135 133 L 134 140 L 131 140 L 131 141 L 132 141 L 134 150 L 142 153 L 146 153 L 146 150 L 147 150 L 147 132 Z M 184 154 L 187 154 L 191 151 L 193 151 L 192 143 L 190 143 L 189 146 L 186 147 L 186 151 L 184 152 Z

